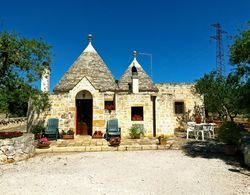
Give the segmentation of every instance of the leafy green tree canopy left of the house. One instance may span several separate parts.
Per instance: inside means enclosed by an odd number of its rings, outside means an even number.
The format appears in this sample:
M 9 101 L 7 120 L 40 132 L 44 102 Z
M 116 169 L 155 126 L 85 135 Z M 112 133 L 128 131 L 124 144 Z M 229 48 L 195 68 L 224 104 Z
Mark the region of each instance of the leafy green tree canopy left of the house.
M 34 88 L 51 63 L 50 46 L 43 40 L 0 32 L 0 113 L 25 116 L 30 98 L 43 100 L 37 110 L 48 106 L 48 96 Z

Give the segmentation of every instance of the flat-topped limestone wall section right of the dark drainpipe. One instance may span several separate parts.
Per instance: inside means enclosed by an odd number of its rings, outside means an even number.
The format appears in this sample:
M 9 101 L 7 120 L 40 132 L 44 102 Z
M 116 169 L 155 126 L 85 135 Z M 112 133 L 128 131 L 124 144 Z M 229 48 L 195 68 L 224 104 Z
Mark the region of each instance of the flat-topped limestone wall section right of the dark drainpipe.
M 174 103 L 183 101 L 185 111 L 193 111 L 195 105 L 203 105 L 203 97 L 193 94 L 194 84 L 156 84 L 159 89 L 156 98 L 157 134 L 173 134 L 179 126 Z

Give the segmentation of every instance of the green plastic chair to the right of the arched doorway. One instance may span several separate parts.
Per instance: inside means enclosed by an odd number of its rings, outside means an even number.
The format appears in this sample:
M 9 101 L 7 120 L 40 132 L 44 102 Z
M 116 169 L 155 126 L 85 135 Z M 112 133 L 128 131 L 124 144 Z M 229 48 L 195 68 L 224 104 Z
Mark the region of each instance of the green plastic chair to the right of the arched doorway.
M 109 141 L 111 137 L 121 137 L 121 128 L 119 128 L 116 118 L 107 121 L 106 139 Z

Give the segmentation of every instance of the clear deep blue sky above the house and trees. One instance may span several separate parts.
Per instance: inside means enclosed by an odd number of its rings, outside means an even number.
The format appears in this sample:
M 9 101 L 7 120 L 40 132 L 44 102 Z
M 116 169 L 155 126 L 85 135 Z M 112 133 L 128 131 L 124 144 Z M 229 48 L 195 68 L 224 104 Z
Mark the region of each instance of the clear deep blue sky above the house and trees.
M 93 46 L 119 79 L 133 50 L 153 56 L 153 80 L 193 82 L 215 68 L 215 34 L 219 22 L 235 35 L 250 20 L 249 0 L 8 0 L 1 1 L 0 30 L 52 45 L 51 89 L 87 46 Z M 227 70 L 228 45 L 224 52 Z M 150 58 L 138 56 L 150 75 Z

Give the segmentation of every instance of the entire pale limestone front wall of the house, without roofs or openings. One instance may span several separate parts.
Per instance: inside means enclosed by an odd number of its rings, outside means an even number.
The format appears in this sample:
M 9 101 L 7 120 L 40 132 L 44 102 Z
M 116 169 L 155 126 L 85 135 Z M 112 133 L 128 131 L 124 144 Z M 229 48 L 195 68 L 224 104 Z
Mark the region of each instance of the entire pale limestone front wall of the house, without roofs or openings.
M 46 113 L 48 118 L 59 119 L 59 130 L 72 129 L 76 131 L 76 97 L 81 91 L 87 91 L 93 99 L 93 130 L 105 132 L 106 121 L 118 118 L 122 136 L 129 135 L 133 124 L 142 124 L 145 135 L 153 135 L 153 102 L 152 95 L 156 96 L 156 134 L 173 134 L 179 126 L 174 112 L 175 101 L 183 101 L 185 111 L 193 110 L 195 105 L 203 105 L 202 97 L 192 93 L 193 84 L 156 84 L 158 93 L 153 92 L 100 92 L 89 80 L 84 77 L 69 93 L 50 95 L 51 109 Z M 115 110 L 104 109 L 105 100 L 115 100 Z M 143 107 L 143 120 L 131 120 L 131 107 Z M 44 116 L 44 115 L 43 115 Z M 40 119 L 42 115 L 40 116 Z

